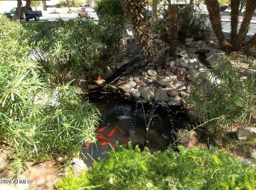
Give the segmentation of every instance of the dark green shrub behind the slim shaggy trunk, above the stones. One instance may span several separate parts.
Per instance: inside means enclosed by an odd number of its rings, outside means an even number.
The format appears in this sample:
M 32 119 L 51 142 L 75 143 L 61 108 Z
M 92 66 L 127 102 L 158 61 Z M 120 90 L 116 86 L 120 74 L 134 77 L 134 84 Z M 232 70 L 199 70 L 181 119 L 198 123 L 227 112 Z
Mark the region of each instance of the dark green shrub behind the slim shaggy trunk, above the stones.
M 154 35 L 162 41 L 168 42 L 169 14 L 168 10 L 160 10 L 161 18 L 152 23 Z M 191 6 L 177 7 L 179 19 L 179 39 L 184 41 L 186 37 L 193 37 L 195 40 L 208 40 L 211 27 L 207 22 L 208 16 L 202 12 L 194 12 Z

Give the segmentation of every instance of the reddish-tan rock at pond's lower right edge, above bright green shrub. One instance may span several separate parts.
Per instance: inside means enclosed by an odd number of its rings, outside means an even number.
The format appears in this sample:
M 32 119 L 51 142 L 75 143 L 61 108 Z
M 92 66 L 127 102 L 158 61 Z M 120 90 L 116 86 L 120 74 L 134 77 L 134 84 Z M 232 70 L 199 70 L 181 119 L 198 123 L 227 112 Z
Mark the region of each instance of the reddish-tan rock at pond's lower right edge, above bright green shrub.
M 179 129 L 176 133 L 178 144 L 184 147 L 192 148 L 198 143 L 198 135 L 195 131 L 188 131 L 187 129 Z

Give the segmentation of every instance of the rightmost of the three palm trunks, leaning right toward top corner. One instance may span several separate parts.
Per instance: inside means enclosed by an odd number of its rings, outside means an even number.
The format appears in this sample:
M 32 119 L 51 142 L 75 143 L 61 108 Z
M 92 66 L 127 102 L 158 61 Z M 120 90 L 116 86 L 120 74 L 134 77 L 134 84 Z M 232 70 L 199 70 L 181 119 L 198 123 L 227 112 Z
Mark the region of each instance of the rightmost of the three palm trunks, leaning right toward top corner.
M 246 1 L 246 10 L 244 13 L 244 19 L 241 24 L 239 33 L 236 37 L 236 42 L 234 45 L 235 51 L 241 51 L 243 48 L 244 40 L 245 40 L 246 34 L 248 33 L 250 22 L 252 20 L 252 16 L 253 16 L 255 10 L 256 10 L 256 1 L 255 0 L 247 0 Z

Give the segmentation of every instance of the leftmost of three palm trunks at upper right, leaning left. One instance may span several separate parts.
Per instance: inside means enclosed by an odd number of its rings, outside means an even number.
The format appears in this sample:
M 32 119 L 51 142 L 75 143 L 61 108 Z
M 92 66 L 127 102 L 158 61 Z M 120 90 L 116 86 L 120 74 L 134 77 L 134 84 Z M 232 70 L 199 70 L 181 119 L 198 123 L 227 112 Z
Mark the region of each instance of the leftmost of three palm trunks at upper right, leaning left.
M 217 36 L 217 39 L 222 48 L 227 48 L 229 46 L 228 42 L 224 37 L 224 33 L 222 31 L 222 24 L 220 18 L 220 3 L 218 0 L 205 0 L 205 4 L 207 6 L 207 10 L 209 12 L 209 19 L 212 23 L 212 29 Z

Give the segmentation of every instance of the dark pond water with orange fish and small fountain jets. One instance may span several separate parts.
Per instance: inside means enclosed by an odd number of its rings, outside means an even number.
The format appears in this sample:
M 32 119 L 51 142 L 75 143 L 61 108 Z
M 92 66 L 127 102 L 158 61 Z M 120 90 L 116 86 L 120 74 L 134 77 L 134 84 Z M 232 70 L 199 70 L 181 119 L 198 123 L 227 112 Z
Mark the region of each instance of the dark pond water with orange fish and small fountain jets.
M 85 143 L 82 155 L 87 165 L 102 157 L 102 152 L 119 144 L 145 146 L 150 151 L 164 150 L 174 141 L 175 132 L 188 121 L 180 107 L 163 108 L 160 105 L 134 102 L 118 94 L 91 94 L 90 102 L 102 113 L 96 144 Z M 147 133 L 146 130 L 148 129 Z M 111 146 L 110 146 L 111 145 Z

